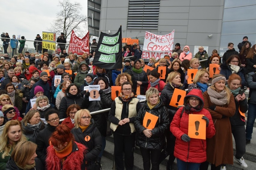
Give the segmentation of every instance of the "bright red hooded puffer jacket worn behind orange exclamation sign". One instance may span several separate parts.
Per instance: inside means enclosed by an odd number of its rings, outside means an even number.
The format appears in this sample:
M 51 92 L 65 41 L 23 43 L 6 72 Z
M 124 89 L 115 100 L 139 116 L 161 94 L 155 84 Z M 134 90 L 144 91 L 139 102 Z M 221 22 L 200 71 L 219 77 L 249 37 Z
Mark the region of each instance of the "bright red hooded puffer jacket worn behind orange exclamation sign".
M 200 99 L 201 107 L 192 111 L 189 114 L 203 114 L 209 119 L 209 125 L 206 127 L 206 138 L 211 138 L 215 135 L 215 128 L 212 121 L 211 114 L 208 110 L 203 108 L 204 99 L 203 94 L 199 89 L 193 89 L 184 98 L 184 105 L 187 105 L 187 100 L 190 97 Z M 189 104 L 188 104 L 189 105 Z M 183 134 L 188 134 L 188 119 L 189 114 L 184 110 L 184 107 L 179 108 L 173 117 L 170 125 L 170 131 L 176 137 L 174 156 L 178 159 L 189 163 L 202 163 L 206 161 L 206 140 L 190 138 L 189 142 L 181 140 Z M 184 112 L 183 112 L 184 111 Z M 183 112 L 183 113 L 182 113 Z M 210 146 L 211 147 L 211 146 Z

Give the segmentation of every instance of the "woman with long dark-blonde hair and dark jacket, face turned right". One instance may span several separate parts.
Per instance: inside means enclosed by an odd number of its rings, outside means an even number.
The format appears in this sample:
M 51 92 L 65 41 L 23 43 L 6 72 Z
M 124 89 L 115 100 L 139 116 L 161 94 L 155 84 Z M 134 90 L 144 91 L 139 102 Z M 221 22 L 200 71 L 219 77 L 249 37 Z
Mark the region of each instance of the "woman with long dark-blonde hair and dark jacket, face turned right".
M 37 110 L 29 111 L 21 121 L 21 124 L 24 135 L 32 142 L 35 142 L 39 131 L 46 127 L 44 122 L 40 119 L 40 114 Z

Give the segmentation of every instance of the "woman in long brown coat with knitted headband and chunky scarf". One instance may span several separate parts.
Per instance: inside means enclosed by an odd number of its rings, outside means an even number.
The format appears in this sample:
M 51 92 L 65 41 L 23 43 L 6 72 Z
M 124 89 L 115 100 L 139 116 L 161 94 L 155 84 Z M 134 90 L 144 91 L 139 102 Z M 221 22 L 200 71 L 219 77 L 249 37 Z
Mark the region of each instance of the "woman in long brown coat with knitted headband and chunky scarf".
M 212 78 L 212 85 L 203 93 L 204 108 L 207 109 L 214 122 L 216 134 L 207 139 L 207 162 L 201 164 L 201 168 L 226 169 L 225 164 L 233 164 L 233 141 L 229 117 L 236 111 L 233 94 L 225 86 L 226 78 L 217 74 Z M 222 167 L 221 167 L 222 166 Z

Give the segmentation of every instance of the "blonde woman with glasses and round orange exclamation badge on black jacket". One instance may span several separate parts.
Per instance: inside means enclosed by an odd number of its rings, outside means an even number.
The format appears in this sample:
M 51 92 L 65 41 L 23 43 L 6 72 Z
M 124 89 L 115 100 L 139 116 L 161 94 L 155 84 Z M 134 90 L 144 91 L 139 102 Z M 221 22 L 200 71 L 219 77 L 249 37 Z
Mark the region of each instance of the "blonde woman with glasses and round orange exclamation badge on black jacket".
M 85 154 L 86 169 L 94 170 L 96 169 L 95 166 L 100 166 L 99 163 L 96 165 L 96 162 L 101 151 L 102 139 L 89 110 L 82 109 L 76 112 L 75 128 L 71 130 L 71 133 L 74 135 L 76 142 L 87 148 L 88 152 Z

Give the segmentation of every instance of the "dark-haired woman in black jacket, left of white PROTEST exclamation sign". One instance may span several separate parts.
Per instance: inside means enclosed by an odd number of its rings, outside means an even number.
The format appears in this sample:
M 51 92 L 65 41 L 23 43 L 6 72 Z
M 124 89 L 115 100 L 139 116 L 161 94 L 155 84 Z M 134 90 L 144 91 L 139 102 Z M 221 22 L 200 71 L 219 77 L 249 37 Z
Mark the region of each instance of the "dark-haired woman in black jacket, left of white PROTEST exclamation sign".
M 66 111 L 72 104 L 79 105 L 81 108 L 84 107 L 84 98 L 80 95 L 80 89 L 74 83 L 71 83 L 66 89 L 66 96 L 62 97 L 59 104 L 59 118 L 63 119 L 67 117 Z

